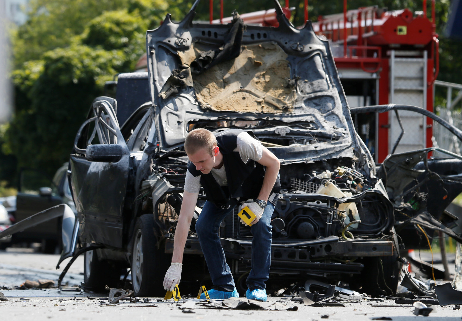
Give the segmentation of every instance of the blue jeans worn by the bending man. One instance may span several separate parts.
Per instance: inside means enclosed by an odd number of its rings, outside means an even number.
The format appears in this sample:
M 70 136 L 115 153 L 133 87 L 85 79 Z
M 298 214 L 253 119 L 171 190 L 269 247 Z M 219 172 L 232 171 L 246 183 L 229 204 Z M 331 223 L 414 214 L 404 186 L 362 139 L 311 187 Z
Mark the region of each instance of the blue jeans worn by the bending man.
M 226 263 L 225 252 L 221 247 L 218 232 L 220 223 L 233 210 L 234 206 L 221 209 L 206 201 L 195 226 L 213 285 L 227 291 L 233 291 L 235 285 L 230 267 Z M 271 264 L 271 217 L 273 211 L 274 205 L 268 202 L 261 219 L 250 227 L 253 235 L 252 269 L 246 282 L 250 290 L 265 290 L 266 288 L 265 282 L 269 277 Z M 237 217 L 237 219 L 239 218 Z

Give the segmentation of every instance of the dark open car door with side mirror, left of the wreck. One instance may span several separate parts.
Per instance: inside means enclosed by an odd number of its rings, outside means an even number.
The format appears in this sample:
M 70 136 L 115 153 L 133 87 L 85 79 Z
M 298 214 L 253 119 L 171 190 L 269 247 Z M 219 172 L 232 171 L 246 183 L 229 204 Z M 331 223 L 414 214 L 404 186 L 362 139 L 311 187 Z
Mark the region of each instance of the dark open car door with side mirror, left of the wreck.
M 130 152 L 115 115 L 116 100 L 95 99 L 75 138 L 70 175 L 81 241 L 120 248 Z

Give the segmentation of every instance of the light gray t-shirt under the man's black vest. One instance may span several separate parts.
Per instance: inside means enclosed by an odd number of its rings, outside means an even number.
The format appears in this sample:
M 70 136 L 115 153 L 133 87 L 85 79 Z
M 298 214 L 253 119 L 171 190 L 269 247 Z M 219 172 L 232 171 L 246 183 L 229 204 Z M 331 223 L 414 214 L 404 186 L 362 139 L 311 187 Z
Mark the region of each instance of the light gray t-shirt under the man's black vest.
M 259 161 L 263 155 L 263 146 L 261 142 L 249 133 L 243 132 L 237 135 L 237 147 L 234 151 L 238 151 L 244 163 L 249 159 Z M 226 179 L 225 165 L 219 169 L 212 169 L 213 177 L 218 182 L 219 186 L 227 186 L 228 180 Z M 186 171 L 186 178 L 184 179 L 184 190 L 189 193 L 199 193 L 201 189 L 201 175 L 193 176 L 188 170 Z

